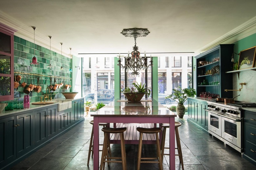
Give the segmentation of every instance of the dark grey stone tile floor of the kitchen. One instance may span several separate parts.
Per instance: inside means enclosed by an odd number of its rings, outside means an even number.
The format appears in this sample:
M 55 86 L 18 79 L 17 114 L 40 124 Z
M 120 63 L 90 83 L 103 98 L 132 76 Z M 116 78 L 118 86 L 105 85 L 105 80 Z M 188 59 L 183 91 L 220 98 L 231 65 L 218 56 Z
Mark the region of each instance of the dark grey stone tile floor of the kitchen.
M 47 144 L 28 158 L 14 165 L 11 170 L 93 170 L 93 158 L 87 166 L 88 150 L 91 138 L 92 125 L 89 123 L 93 117 L 87 115 L 79 123 L 56 140 Z M 176 118 L 182 126 L 179 127 L 183 163 L 185 170 L 252 170 L 256 166 L 242 158 L 241 153 L 224 144 L 219 139 L 210 136 L 201 127 L 187 120 Z M 169 132 L 167 130 L 166 136 Z M 103 133 L 100 131 L 100 141 Z M 168 139 L 165 146 L 168 147 Z M 102 146 L 101 146 L 102 147 Z M 137 169 L 138 145 L 126 144 L 127 170 Z M 112 156 L 120 157 L 120 145 L 111 144 Z M 168 150 L 165 150 L 168 153 Z M 155 145 L 144 144 L 142 157 L 154 157 Z M 177 154 L 177 151 L 176 151 Z M 101 152 L 100 152 L 101 156 Z M 163 159 L 163 169 L 169 169 L 169 156 Z M 182 169 L 179 157 L 175 158 L 176 169 Z M 120 163 L 105 165 L 108 170 L 120 170 Z M 141 164 L 141 170 L 157 170 L 158 164 Z

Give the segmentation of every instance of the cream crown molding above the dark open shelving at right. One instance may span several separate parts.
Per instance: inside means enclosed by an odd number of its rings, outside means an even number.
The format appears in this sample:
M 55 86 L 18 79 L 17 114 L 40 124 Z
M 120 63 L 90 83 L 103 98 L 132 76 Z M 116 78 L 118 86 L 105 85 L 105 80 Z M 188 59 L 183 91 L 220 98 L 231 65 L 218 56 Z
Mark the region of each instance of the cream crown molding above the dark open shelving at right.
M 210 42 L 209 44 L 198 49 L 196 53 L 203 53 L 215 47 L 218 44 L 232 44 L 234 42 L 237 42 L 255 33 L 256 33 L 256 16 L 246 21 L 244 24 L 239 25 L 235 29 L 224 34 L 220 38 L 214 40 L 213 42 Z

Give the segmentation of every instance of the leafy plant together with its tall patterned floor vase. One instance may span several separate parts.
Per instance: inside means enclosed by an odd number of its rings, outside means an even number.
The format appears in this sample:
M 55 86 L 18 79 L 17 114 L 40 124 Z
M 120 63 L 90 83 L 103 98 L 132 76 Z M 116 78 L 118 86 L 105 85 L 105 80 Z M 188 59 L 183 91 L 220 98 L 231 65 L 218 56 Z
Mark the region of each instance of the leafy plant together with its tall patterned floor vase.
M 173 93 L 166 96 L 165 98 L 171 98 L 173 100 L 175 100 L 176 102 L 178 102 L 178 106 L 176 107 L 176 112 L 179 116 L 179 118 L 183 118 L 184 114 L 185 114 L 185 106 L 184 106 L 184 102 L 187 100 L 188 96 L 194 96 L 196 94 L 196 90 L 195 89 L 181 89 L 181 87 L 179 86 L 178 89 L 173 89 Z

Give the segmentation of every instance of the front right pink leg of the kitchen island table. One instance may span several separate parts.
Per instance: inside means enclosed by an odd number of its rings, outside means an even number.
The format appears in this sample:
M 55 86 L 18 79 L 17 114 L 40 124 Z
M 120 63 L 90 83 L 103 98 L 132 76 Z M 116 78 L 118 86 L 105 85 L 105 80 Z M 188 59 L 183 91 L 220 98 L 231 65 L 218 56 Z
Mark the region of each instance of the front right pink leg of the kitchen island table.
M 170 126 L 169 126 L 169 146 L 170 146 L 170 160 L 169 166 L 171 170 L 175 170 L 175 119 L 170 117 Z

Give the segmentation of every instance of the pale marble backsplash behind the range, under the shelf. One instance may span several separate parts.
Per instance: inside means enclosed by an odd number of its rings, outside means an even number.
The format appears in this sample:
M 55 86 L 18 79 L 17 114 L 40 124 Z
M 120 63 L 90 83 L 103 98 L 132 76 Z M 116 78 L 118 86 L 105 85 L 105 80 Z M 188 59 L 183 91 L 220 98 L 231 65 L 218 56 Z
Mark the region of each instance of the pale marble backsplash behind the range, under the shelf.
M 235 100 L 256 103 L 256 71 L 242 71 L 240 72 L 239 79 L 238 74 L 233 73 L 233 90 L 241 88 L 239 83 L 246 83 L 246 85 L 243 85 L 243 89 L 241 89 L 240 92 L 233 92 L 233 97 L 240 94 L 240 96 L 236 97 Z

